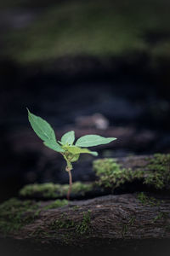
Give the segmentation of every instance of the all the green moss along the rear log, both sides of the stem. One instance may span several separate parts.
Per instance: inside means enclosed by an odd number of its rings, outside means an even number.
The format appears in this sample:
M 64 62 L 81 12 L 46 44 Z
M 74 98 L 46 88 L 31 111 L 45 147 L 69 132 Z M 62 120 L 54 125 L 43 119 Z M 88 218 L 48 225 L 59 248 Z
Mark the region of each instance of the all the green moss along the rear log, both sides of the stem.
M 133 161 L 133 160 L 132 160 Z M 140 181 L 155 189 L 167 189 L 170 187 L 170 154 L 155 154 L 137 162 L 137 167 L 132 168 L 118 163 L 118 160 L 105 158 L 94 160 L 94 172 L 97 177 L 96 183 L 72 184 L 71 195 L 85 196 L 101 187 L 106 189 L 116 189 L 125 183 Z M 20 190 L 20 195 L 30 198 L 57 199 L 65 198 L 69 189 L 69 184 L 29 184 Z

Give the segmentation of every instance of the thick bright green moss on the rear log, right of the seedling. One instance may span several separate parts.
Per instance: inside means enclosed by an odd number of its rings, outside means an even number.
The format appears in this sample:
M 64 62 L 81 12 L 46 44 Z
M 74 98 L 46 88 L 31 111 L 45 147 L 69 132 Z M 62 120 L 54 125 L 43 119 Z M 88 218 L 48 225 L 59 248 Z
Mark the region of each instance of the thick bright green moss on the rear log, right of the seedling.
M 138 179 L 156 189 L 167 188 L 170 183 L 170 154 L 155 154 L 145 161 L 145 166 L 132 170 L 124 168 L 115 159 L 95 160 L 94 172 L 99 178 L 97 183 L 105 188 L 116 189 Z

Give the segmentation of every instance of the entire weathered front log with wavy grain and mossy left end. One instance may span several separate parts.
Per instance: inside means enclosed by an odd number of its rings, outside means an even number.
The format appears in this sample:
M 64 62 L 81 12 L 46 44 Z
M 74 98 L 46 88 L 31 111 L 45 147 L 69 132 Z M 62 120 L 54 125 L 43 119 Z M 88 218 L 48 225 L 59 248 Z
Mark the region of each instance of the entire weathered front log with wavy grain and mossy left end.
M 170 239 L 170 197 L 144 193 L 86 201 L 13 199 L 1 205 L 0 237 L 83 246 L 117 239 Z

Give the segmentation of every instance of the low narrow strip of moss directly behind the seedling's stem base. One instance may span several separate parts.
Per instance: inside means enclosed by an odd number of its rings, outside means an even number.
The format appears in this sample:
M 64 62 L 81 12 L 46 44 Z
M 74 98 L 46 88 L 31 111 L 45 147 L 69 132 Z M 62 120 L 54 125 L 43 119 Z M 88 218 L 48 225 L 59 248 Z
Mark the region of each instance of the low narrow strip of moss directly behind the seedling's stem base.
M 20 190 L 20 195 L 25 197 L 40 196 L 44 198 L 65 197 L 69 189 L 69 184 L 30 184 Z M 72 184 L 71 195 L 85 195 L 86 192 L 93 189 L 93 184 L 76 182 Z

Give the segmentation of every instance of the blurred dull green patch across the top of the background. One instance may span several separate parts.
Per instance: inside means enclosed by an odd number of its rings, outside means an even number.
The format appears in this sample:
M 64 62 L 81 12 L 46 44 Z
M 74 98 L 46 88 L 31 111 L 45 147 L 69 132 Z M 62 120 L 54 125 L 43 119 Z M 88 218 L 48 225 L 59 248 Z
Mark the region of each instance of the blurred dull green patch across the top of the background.
M 168 39 L 153 46 L 145 35 L 170 32 L 169 9 L 167 0 L 53 3 L 29 26 L 4 33 L 4 50 L 21 63 L 54 60 L 65 55 L 103 58 L 133 50 L 154 56 L 162 51 L 166 54 Z

